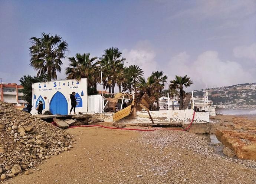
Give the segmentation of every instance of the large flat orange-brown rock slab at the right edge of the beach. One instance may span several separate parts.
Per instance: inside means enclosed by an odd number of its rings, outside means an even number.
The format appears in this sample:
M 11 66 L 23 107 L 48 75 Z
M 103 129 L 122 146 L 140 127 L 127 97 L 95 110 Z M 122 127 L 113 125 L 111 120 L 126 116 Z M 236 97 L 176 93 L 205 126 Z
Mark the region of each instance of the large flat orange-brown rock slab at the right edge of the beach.
M 237 158 L 256 161 L 256 136 L 253 132 L 217 130 L 217 139 L 229 147 Z

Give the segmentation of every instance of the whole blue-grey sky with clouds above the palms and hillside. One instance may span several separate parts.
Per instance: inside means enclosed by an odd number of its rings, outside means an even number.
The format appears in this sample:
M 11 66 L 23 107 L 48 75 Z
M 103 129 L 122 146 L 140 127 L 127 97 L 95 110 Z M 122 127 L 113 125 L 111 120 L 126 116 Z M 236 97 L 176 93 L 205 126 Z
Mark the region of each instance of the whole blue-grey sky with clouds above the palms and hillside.
M 29 39 L 42 32 L 62 36 L 67 57 L 114 46 L 145 78 L 188 75 L 188 91 L 256 82 L 255 0 L 0 0 L 0 80 L 36 75 Z

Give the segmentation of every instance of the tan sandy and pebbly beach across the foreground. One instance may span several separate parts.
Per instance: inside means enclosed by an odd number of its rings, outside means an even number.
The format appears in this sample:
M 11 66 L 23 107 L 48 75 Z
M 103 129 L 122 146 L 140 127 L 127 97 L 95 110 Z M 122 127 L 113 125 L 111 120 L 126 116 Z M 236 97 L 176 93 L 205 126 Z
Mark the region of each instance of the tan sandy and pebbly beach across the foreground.
M 228 129 L 237 116 L 211 118 L 212 132 Z M 110 123 L 104 123 L 111 126 Z M 226 125 L 226 126 L 225 126 Z M 53 156 L 15 184 L 44 183 L 256 183 L 256 162 L 217 153 L 205 137 L 183 131 L 70 128 L 73 148 Z

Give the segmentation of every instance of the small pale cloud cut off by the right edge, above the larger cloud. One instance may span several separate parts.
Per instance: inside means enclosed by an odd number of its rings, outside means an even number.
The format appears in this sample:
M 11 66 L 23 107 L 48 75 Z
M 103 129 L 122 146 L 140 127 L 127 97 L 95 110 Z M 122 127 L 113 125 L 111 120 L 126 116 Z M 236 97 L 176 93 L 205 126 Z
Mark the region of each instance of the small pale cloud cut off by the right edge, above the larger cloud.
M 239 46 L 233 49 L 236 58 L 253 59 L 256 62 L 256 43 L 249 46 Z

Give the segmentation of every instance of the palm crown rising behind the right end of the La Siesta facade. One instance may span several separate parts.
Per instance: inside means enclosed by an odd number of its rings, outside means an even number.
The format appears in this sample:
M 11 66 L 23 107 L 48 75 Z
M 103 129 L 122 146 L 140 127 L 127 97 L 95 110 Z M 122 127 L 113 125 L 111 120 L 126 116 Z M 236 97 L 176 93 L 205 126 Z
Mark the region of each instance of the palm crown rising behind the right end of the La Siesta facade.
M 99 71 L 98 63 L 93 63 L 97 57 L 90 58 L 90 53 L 80 54 L 76 53 L 76 56 L 69 57 L 69 67 L 66 68 L 66 79 L 81 80 L 81 78 L 87 78 L 88 87 L 96 88 Z

